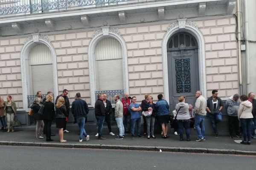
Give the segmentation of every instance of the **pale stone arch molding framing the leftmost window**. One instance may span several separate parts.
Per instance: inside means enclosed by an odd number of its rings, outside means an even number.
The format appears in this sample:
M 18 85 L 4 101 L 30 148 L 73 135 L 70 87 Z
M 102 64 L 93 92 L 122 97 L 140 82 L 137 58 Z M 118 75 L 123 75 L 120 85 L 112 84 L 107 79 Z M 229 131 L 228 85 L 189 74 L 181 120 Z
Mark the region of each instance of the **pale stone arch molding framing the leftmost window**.
M 53 81 L 54 81 L 54 94 L 55 97 L 58 96 L 58 76 L 57 76 L 57 61 L 56 61 L 56 54 L 55 49 L 50 43 L 50 39 L 47 35 L 40 35 L 40 34 L 31 34 L 31 36 L 27 37 L 24 41 L 24 46 L 21 50 L 21 57 L 20 57 L 20 65 L 21 65 L 21 77 L 22 77 L 22 91 L 23 91 L 23 108 L 25 111 L 28 111 L 28 99 L 27 95 L 29 92 L 30 84 L 28 81 L 29 78 L 29 52 L 31 49 L 37 45 L 35 42 L 43 43 L 47 45 L 47 47 L 51 51 L 52 55 L 52 68 L 53 68 Z

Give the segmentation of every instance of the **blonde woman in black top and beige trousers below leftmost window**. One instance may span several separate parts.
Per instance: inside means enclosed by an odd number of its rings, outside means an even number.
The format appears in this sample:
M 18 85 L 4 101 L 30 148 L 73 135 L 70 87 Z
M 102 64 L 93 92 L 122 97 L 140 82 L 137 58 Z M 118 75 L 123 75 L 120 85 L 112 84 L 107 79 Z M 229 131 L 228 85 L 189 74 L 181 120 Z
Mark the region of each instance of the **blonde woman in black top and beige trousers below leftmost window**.
M 36 97 L 32 105 L 30 106 L 31 109 L 33 109 L 34 118 L 36 119 L 36 127 L 35 127 L 35 137 L 37 139 L 43 139 L 44 134 L 44 121 L 43 121 L 43 115 L 38 114 L 40 106 L 41 98 Z

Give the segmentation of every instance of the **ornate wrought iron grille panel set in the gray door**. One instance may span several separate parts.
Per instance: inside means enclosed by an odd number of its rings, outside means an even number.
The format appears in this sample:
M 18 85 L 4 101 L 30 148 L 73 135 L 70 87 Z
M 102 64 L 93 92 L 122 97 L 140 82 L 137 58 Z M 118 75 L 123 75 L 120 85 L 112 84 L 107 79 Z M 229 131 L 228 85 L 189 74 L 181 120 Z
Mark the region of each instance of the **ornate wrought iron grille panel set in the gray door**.
M 190 59 L 175 59 L 176 92 L 191 93 Z

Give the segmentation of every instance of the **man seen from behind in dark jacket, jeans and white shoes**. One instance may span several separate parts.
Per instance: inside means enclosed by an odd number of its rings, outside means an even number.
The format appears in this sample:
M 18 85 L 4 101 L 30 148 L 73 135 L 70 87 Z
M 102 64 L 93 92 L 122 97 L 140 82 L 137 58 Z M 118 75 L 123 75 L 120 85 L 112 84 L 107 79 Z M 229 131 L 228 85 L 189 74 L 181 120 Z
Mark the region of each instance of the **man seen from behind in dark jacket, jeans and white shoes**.
M 72 103 L 71 112 L 80 128 L 79 142 L 83 141 L 83 135 L 86 137 L 85 141 L 89 141 L 90 136 L 87 135 L 84 129 L 85 118 L 89 113 L 89 108 L 87 103 L 81 99 L 80 93 L 76 94 L 76 100 Z

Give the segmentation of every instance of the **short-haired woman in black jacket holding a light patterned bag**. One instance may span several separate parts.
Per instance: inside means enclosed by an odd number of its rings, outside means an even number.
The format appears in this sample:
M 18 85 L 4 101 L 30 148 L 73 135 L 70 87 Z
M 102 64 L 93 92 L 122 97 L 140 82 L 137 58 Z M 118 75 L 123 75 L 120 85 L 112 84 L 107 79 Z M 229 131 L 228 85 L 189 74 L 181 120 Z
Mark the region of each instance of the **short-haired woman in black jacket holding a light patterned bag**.
M 157 106 L 155 103 L 153 103 L 153 97 L 149 96 L 148 102 L 145 104 L 143 111 L 152 111 L 152 114 L 150 116 L 145 116 L 146 122 L 147 122 L 147 134 L 148 134 L 148 139 L 150 139 L 150 136 L 153 139 L 156 139 L 154 136 L 154 122 L 155 122 L 155 117 L 157 115 Z

